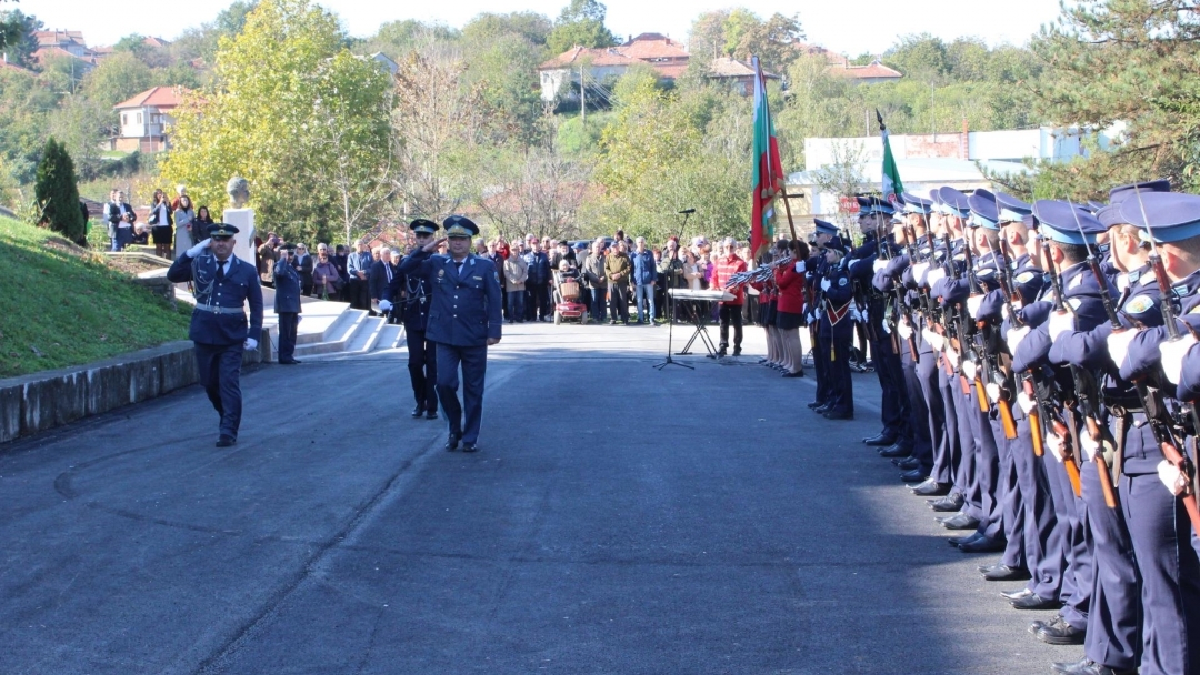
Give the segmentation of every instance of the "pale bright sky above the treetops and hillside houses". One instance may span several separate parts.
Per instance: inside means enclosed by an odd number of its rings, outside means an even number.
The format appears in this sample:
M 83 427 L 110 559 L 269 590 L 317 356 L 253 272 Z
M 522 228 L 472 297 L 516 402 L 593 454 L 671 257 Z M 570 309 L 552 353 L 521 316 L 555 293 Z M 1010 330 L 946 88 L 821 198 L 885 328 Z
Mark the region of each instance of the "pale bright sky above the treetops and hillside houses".
M 22 0 L 16 7 L 37 16 L 47 28 L 84 31 L 90 46 L 112 44 L 131 32 L 170 40 L 187 26 L 212 19 L 226 0 Z M 554 18 L 566 0 L 454 0 L 414 2 L 401 0 L 326 0 L 352 35 L 367 36 L 379 24 L 395 19 L 437 20 L 461 26 L 473 16 L 488 12 L 535 11 Z M 857 55 L 882 52 L 898 37 L 930 32 L 944 40 L 983 37 L 989 44 L 1024 44 L 1042 24 L 1057 18 L 1057 0 L 857 0 L 850 2 L 798 2 L 754 0 L 746 2 L 680 0 L 610 0 L 608 28 L 619 36 L 664 32 L 686 40 L 691 20 L 703 11 L 745 6 L 766 18 L 775 12 L 798 12 L 809 41 L 834 52 Z M 865 20 L 862 20 L 865 19 Z

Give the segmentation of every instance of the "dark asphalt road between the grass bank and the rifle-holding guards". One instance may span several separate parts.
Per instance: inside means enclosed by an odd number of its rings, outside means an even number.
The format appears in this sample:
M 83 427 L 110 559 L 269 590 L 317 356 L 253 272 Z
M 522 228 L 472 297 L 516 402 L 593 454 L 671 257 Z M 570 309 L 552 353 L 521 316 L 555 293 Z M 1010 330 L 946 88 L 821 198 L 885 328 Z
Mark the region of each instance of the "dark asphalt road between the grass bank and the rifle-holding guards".
M 478 454 L 413 421 L 402 352 L 197 387 L 0 446 L 0 673 L 1024 674 L 1025 628 L 924 500 L 748 355 L 518 326 Z M 676 339 L 686 337 L 676 331 Z M 678 342 L 676 342 L 678 349 Z

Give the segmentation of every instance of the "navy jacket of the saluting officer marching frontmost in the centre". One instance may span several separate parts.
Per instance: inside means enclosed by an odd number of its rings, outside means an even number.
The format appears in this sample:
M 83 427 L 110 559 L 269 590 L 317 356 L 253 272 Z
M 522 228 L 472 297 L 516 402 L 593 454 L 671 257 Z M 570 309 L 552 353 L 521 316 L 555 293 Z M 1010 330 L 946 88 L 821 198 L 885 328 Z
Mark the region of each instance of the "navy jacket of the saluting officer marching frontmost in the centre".
M 418 248 L 400 264 L 400 273 L 425 278 L 433 289 L 426 338 L 455 346 L 486 346 L 500 338 L 500 279 L 496 265 L 468 254 L 462 272 L 449 255 Z

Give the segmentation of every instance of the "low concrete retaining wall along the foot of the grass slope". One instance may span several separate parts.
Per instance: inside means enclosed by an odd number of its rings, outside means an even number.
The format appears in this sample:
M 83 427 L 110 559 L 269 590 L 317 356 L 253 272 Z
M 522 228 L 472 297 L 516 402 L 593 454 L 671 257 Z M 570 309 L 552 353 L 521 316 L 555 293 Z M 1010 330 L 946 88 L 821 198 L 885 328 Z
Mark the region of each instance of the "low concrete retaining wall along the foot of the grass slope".
M 264 330 L 259 348 L 247 351 L 242 363 L 264 361 L 270 342 Z M 0 380 L 0 442 L 142 403 L 196 381 L 191 342 L 172 342 L 86 366 Z

